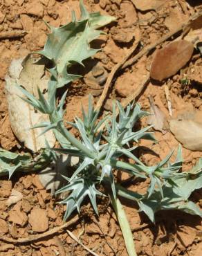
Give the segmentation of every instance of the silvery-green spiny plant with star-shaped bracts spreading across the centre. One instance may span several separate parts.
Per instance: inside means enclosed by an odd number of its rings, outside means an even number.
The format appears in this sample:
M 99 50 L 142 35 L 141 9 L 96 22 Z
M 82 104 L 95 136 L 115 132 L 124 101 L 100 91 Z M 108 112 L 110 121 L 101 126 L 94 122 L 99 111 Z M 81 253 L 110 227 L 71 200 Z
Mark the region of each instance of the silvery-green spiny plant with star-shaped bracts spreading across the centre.
M 149 114 L 142 111 L 139 104 L 135 104 L 134 107 L 129 104 L 125 110 L 119 102 L 116 102 L 113 104 L 112 116 L 98 120 L 98 111 L 94 110 L 89 97 L 88 112 L 85 113 L 82 109 L 82 120 L 75 118 L 72 124 L 80 134 L 80 139 L 77 139 L 64 126 L 63 104 L 66 93 L 56 106 L 54 91 L 50 99 L 46 100 L 40 90 L 38 90 L 39 99 L 37 99 L 21 87 L 19 88 L 26 95 L 25 100 L 28 103 L 50 117 L 50 122 L 39 124 L 34 128 L 44 127 L 44 132 L 49 129 L 57 131 L 57 140 L 62 146 L 60 149 L 55 149 L 57 153 L 77 156 L 79 159 L 71 176 L 71 172 L 66 170 L 66 176 L 64 176 L 66 186 L 56 192 L 57 194 L 69 192 L 61 202 L 66 204 L 64 219 L 70 217 L 74 210 L 80 212 L 80 205 L 86 196 L 89 196 L 91 205 L 98 214 L 97 196 L 104 195 L 98 190 L 100 183 L 104 187 L 110 187 L 109 195 L 113 199 L 116 199 L 116 196 L 122 196 L 136 201 L 140 211 L 145 212 L 151 221 L 154 221 L 154 214 L 158 210 L 179 209 L 202 216 L 196 204 L 189 201 L 192 191 L 202 187 L 202 159 L 190 172 L 181 172 L 183 162 L 181 146 L 178 148 L 174 163 L 170 162 L 173 152 L 154 166 L 146 166 L 134 154 L 139 139 L 154 140 L 153 134 L 149 131 L 151 127 L 134 131 L 136 122 Z M 118 120 L 116 107 L 119 111 Z M 129 163 L 129 159 L 134 163 Z M 149 179 L 147 193 L 138 194 L 118 184 L 114 176 L 115 170 Z

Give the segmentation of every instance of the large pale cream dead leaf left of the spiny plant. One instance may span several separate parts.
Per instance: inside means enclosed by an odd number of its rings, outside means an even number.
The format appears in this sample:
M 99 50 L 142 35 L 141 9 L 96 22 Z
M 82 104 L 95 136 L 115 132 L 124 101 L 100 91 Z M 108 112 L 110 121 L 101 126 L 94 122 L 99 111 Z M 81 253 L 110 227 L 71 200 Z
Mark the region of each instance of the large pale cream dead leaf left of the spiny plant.
M 10 125 L 15 136 L 24 143 L 28 149 L 37 152 L 45 147 L 45 138 L 50 147 L 55 145 L 55 136 L 53 131 L 39 136 L 43 129 L 28 129 L 40 122 L 48 121 L 48 116 L 35 111 L 30 104 L 21 100 L 24 94 L 17 89 L 16 85 L 24 86 L 24 88 L 37 96 L 37 86 L 41 91 L 47 88 L 48 78 L 44 77 L 44 66 L 34 64 L 36 59 L 26 58 L 24 60 L 13 60 L 8 75 L 6 75 L 6 96 L 8 101 L 8 114 Z

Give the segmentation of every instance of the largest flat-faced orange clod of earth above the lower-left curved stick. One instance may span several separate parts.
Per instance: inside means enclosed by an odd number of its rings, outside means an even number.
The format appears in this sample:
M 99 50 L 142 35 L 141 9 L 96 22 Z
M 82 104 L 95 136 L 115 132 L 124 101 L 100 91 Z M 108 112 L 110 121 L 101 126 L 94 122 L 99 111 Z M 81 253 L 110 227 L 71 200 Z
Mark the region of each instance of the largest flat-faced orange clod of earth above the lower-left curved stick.
M 35 232 L 44 232 L 48 229 L 48 217 L 46 210 L 34 207 L 30 212 L 29 223 Z

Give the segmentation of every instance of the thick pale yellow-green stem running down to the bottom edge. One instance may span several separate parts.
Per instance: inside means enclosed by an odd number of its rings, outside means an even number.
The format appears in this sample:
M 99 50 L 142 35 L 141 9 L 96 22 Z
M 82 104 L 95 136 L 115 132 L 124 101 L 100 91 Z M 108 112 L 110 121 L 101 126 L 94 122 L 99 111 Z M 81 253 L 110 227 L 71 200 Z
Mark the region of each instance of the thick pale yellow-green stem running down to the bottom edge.
M 127 248 L 127 253 L 129 256 L 137 256 L 136 248 L 134 245 L 133 234 L 131 232 L 131 228 L 129 226 L 129 221 L 125 214 L 125 210 L 122 208 L 122 204 L 120 203 L 118 198 L 114 198 L 113 194 L 111 194 L 111 204 L 113 209 L 116 212 L 116 217 L 118 219 L 118 223 L 120 225 L 120 229 L 122 231 L 122 236 L 125 240 L 125 246 Z

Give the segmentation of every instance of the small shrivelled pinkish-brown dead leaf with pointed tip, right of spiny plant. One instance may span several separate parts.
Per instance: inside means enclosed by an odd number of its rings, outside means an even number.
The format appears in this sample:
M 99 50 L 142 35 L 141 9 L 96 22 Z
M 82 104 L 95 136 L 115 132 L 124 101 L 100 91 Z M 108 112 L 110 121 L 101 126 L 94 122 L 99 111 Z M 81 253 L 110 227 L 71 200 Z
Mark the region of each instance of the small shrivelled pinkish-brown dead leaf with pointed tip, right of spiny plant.
M 165 130 L 163 129 L 166 120 L 165 113 L 154 104 L 152 96 L 149 96 L 149 103 L 151 115 L 147 118 L 148 125 L 153 125 L 156 131 L 161 131 L 165 134 Z

